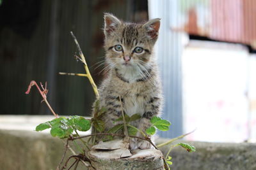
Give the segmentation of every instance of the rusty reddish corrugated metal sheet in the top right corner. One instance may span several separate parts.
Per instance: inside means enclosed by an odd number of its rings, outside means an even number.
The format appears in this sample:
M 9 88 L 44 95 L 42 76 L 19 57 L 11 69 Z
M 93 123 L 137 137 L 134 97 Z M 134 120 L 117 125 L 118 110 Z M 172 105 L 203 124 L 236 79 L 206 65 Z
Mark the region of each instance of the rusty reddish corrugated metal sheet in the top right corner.
M 182 0 L 186 23 L 174 30 L 256 49 L 256 1 Z M 184 7 L 186 6 L 186 8 Z

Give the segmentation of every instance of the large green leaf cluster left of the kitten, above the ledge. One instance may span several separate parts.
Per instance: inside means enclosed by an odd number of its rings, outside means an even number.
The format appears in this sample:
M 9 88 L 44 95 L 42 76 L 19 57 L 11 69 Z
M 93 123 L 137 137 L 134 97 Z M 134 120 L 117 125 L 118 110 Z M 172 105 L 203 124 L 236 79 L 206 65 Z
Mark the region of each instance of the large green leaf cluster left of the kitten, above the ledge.
M 67 138 L 74 131 L 88 131 L 91 128 L 91 122 L 79 116 L 60 117 L 36 126 L 36 131 L 44 131 L 50 128 L 53 137 Z

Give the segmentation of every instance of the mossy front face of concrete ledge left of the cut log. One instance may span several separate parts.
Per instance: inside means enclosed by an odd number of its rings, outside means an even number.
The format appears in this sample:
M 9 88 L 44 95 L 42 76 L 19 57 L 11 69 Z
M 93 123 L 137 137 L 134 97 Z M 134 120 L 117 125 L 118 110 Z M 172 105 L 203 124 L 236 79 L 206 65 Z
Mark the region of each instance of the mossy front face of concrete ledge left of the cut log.
M 61 139 L 42 132 L 0 129 L 0 169 L 56 169 L 64 145 Z

